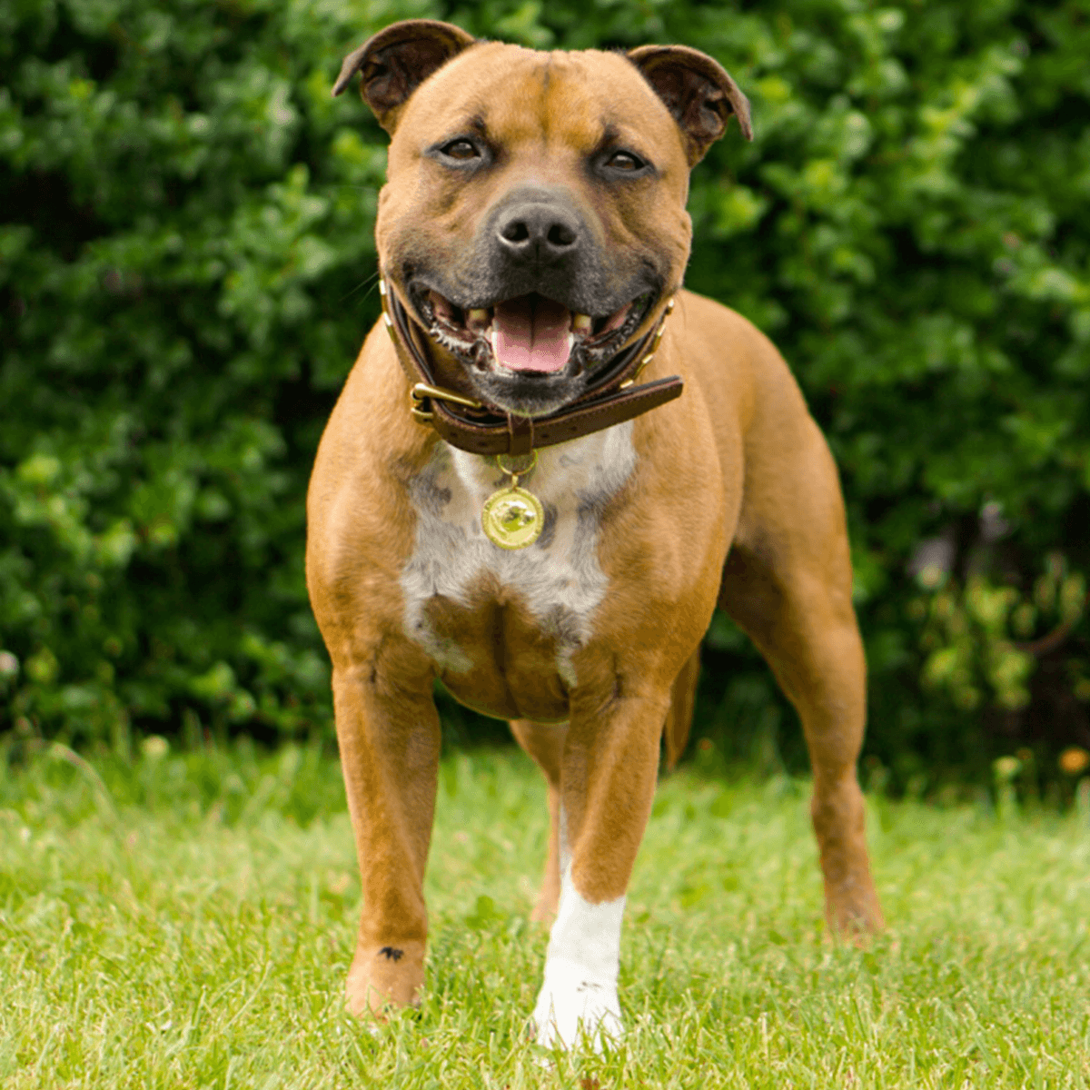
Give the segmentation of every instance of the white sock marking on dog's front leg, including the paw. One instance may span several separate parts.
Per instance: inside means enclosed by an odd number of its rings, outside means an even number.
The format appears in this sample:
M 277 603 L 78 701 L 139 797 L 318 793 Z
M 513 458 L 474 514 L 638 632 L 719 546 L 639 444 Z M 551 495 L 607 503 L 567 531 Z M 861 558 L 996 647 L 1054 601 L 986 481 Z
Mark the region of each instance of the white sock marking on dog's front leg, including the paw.
M 560 879 L 560 904 L 545 956 L 545 979 L 534 1005 L 537 1043 L 574 1049 L 581 1040 L 601 1052 L 623 1026 L 617 1002 L 620 924 L 625 898 L 592 905 L 571 880 Z

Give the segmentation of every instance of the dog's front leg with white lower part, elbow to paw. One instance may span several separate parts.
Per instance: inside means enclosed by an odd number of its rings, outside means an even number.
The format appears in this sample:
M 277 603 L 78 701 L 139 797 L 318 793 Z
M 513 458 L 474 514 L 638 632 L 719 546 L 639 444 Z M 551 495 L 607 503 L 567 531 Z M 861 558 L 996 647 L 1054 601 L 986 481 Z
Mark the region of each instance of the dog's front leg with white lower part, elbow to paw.
M 621 1031 L 617 1002 L 625 891 L 651 813 L 669 690 L 572 701 L 561 764 L 560 901 L 533 1020 L 540 1044 L 595 1049 Z

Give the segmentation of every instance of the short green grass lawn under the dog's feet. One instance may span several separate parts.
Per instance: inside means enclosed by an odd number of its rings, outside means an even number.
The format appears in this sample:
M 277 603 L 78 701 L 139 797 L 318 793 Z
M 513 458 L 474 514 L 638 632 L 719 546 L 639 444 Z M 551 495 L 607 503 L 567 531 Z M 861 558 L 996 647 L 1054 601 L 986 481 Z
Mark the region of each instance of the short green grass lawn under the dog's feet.
M 32 754 L 0 780 L 0 1086 L 1090 1086 L 1086 818 L 872 800 L 891 927 L 859 952 L 826 940 L 806 794 L 663 782 L 628 1032 L 550 1062 L 525 1034 L 545 807 L 520 753 L 445 761 L 427 993 L 371 1031 L 341 1009 L 359 882 L 335 761 Z

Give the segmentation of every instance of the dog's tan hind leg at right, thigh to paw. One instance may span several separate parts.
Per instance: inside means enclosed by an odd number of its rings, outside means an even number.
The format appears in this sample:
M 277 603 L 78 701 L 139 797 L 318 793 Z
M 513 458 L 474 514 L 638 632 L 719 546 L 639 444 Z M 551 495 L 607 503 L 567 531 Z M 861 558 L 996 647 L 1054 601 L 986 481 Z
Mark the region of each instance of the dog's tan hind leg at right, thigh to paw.
M 836 470 L 816 427 L 799 439 L 794 465 L 747 479 L 719 605 L 760 647 L 802 720 L 825 916 L 832 931 L 850 935 L 882 927 L 856 778 L 867 667 Z

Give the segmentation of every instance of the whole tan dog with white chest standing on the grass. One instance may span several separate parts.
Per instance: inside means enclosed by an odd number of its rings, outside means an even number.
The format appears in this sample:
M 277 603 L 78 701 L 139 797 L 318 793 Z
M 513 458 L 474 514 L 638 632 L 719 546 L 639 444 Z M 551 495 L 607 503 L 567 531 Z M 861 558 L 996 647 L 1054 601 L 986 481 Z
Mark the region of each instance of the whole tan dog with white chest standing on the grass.
M 438 677 L 548 784 L 538 1040 L 620 1032 L 625 891 L 716 603 L 801 716 L 829 925 L 880 927 L 836 470 L 775 348 L 680 291 L 689 170 L 731 113 L 749 134 L 744 96 L 692 49 L 536 52 L 426 21 L 352 53 L 335 94 L 358 71 L 392 136 L 392 337 L 371 331 L 326 428 L 306 558 L 363 882 L 350 1007 L 424 980 Z

